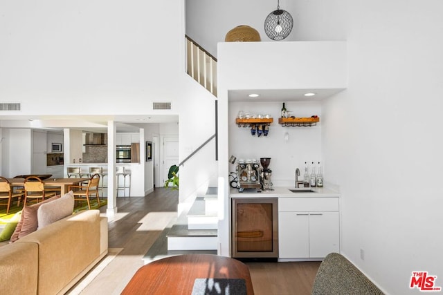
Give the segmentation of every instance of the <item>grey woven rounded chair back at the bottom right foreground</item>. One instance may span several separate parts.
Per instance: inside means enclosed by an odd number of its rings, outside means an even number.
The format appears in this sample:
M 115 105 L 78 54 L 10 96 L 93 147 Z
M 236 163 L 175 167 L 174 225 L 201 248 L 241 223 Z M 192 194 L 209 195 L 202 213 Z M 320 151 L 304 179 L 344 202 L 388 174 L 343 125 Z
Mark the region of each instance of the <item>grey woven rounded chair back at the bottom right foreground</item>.
M 331 253 L 323 259 L 318 267 L 312 294 L 382 295 L 383 292 L 345 256 Z

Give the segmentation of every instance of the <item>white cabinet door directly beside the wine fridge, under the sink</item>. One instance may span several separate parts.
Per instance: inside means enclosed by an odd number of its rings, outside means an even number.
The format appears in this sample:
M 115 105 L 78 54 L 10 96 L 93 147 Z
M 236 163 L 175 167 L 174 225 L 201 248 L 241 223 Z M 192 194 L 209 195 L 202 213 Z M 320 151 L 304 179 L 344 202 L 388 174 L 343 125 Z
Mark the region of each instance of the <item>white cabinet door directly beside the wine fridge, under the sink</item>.
M 309 213 L 278 212 L 278 257 L 309 257 Z

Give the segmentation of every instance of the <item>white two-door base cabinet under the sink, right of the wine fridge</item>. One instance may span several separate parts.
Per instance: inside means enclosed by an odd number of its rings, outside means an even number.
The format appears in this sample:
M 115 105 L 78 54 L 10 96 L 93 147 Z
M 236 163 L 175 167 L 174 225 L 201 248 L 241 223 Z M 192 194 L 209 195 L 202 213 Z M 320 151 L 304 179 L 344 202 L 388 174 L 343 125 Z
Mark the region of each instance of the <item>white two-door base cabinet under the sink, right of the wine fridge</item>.
M 340 251 L 338 198 L 279 198 L 279 258 L 323 258 Z

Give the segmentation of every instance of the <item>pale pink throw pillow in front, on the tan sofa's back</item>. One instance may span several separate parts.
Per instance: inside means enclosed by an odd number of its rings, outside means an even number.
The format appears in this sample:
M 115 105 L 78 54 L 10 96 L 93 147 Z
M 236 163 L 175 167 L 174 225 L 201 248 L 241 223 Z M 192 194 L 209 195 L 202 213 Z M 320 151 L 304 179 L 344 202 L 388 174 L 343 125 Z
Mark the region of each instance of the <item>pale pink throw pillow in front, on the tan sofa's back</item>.
M 72 215 L 74 211 L 74 193 L 69 191 L 62 198 L 42 204 L 37 210 L 38 229 Z

